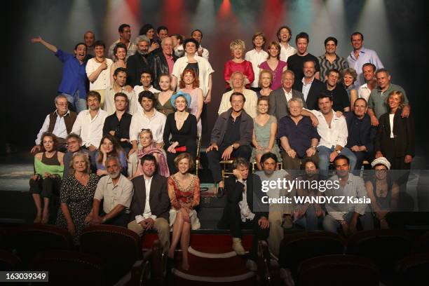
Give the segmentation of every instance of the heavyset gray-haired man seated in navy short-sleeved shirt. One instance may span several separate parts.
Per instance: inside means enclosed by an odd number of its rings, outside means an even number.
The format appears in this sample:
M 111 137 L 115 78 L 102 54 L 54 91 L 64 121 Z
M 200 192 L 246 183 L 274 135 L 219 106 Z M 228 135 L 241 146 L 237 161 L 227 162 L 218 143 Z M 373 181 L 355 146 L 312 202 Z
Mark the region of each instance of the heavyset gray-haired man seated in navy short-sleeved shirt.
M 278 137 L 282 146 L 283 168 L 299 170 L 306 159 L 318 163 L 316 150 L 320 135 L 308 116 L 301 114 L 304 102 L 292 97 L 288 102 L 289 114 L 278 123 Z

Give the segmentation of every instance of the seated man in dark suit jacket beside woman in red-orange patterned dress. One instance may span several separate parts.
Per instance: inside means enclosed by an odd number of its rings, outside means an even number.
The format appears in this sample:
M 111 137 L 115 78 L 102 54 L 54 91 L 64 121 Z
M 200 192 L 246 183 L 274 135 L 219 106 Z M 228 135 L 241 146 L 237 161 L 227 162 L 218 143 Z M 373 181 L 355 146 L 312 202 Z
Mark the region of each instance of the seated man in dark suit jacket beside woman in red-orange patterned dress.
M 156 229 L 158 238 L 165 251 L 170 247 L 170 226 L 168 217 L 170 198 L 168 197 L 167 179 L 155 174 L 156 158 L 154 155 L 142 157 L 143 175 L 132 179 L 134 194 L 130 207 L 128 229 L 142 236 L 144 231 Z

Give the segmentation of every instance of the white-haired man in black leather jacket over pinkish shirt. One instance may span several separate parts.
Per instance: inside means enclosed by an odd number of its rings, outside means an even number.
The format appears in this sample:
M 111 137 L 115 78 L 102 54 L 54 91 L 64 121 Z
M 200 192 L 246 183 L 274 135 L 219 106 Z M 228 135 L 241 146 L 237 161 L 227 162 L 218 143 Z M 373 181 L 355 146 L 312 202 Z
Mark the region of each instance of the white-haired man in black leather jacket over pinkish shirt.
M 159 87 L 159 78 L 161 74 L 172 74 L 177 57 L 173 53 L 172 39 L 167 36 L 161 41 L 161 52 L 151 53 L 149 57 L 149 67 L 154 73 L 154 88 L 161 90 Z

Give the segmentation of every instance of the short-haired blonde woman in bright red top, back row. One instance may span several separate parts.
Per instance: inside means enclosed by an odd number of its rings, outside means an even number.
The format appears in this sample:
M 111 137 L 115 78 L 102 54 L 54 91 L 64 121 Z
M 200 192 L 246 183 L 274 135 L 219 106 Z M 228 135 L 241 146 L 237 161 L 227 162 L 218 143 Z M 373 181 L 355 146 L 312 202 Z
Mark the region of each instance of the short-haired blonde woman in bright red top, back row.
M 229 45 L 233 59 L 225 63 L 224 79 L 226 81 L 226 88 L 230 89 L 229 80 L 234 71 L 241 71 L 245 75 L 246 88 L 250 87 L 250 83 L 254 81 L 254 73 L 252 62 L 244 59 L 245 42 L 243 40 L 232 41 Z

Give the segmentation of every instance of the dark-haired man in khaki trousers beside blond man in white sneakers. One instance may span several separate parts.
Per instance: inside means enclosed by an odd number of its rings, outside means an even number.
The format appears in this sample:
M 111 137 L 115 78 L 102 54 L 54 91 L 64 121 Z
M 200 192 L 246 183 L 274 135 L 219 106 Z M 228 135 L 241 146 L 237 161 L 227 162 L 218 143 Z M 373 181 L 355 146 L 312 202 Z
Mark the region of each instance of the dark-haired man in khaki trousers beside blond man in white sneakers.
M 262 184 L 270 186 L 271 182 L 278 182 L 278 180 L 291 179 L 289 174 L 283 170 L 275 170 L 277 168 L 278 158 L 273 153 L 266 153 L 261 157 L 262 170 L 255 172 L 261 178 Z M 264 183 L 264 182 L 270 183 Z M 275 188 L 269 188 L 268 198 L 293 198 L 294 190 L 287 190 L 278 188 L 278 184 L 275 184 Z M 283 227 L 285 229 L 292 228 L 292 212 L 293 205 L 291 203 L 270 203 L 268 212 L 268 222 L 270 223 L 270 235 L 268 236 L 268 246 L 271 252 L 278 257 L 280 242 L 283 239 Z

